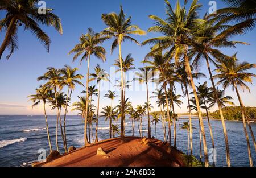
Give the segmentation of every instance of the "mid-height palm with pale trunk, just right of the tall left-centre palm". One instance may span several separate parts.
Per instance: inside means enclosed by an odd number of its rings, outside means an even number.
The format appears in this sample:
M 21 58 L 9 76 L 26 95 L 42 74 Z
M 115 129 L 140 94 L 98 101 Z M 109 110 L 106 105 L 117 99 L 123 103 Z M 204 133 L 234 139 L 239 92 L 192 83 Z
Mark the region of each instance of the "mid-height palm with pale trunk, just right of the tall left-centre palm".
M 97 118 L 96 118 L 96 128 L 95 128 L 95 142 L 98 142 L 98 112 L 100 110 L 100 82 L 109 81 L 109 74 L 102 69 L 99 64 L 94 68 L 94 73 L 89 74 L 91 76 L 90 81 L 96 80 L 98 84 L 98 102 L 97 102 Z

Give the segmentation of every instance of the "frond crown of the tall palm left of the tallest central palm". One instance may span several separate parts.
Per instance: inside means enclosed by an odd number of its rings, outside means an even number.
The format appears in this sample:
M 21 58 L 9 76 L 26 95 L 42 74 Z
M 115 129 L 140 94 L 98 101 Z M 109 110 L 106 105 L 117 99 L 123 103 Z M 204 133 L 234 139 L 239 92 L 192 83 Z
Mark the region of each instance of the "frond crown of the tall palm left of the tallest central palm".
M 94 55 L 98 59 L 105 61 L 106 51 L 103 47 L 99 45 L 103 43 L 104 40 L 106 40 L 105 37 L 94 32 L 92 28 L 88 28 L 87 33 L 80 36 L 79 44 L 75 45 L 75 47 L 69 52 L 69 55 L 75 53 L 75 55 L 73 56 L 73 61 L 75 61 L 80 55 L 82 55 L 80 63 L 83 60 L 87 60 L 89 55 Z

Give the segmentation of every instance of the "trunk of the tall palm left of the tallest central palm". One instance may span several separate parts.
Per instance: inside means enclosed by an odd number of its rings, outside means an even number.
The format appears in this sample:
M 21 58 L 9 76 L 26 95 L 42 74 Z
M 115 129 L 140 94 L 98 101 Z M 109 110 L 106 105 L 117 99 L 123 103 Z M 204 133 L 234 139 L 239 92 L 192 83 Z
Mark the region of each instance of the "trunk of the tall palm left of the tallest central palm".
M 89 98 L 89 68 L 90 68 L 90 52 L 88 54 L 87 74 L 86 74 L 86 106 L 85 106 L 85 118 L 84 118 L 84 143 L 87 146 L 87 117 L 88 117 L 88 98 Z

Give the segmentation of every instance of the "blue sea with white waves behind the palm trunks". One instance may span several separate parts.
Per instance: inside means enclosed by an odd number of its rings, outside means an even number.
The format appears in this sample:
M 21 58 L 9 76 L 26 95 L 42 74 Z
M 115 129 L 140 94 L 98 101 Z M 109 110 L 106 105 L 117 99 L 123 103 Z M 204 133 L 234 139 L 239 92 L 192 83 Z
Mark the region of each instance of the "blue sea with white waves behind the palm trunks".
M 109 123 L 104 118 L 99 119 L 99 140 L 109 138 Z M 180 124 L 188 121 L 187 116 L 182 116 L 176 122 L 177 127 L 177 149 L 187 153 L 187 131 L 182 130 Z M 120 121 L 115 121 L 119 124 Z M 200 158 L 199 123 L 196 118 L 192 120 L 196 129 L 193 129 L 193 155 Z M 216 147 L 216 166 L 226 166 L 225 141 L 222 131 L 221 121 L 211 120 Z M 52 147 L 56 150 L 55 125 L 56 116 L 48 115 L 49 132 L 51 135 Z M 254 134 L 256 134 L 256 123 L 251 123 Z M 167 127 L 167 123 L 166 123 Z M 212 147 L 207 120 L 204 120 L 205 134 L 207 137 L 208 150 Z M 228 129 L 230 160 L 232 166 L 249 166 L 247 144 L 243 125 L 240 121 L 226 121 Z M 95 125 L 93 125 L 93 134 Z M 84 123 L 77 115 L 67 116 L 67 143 L 68 146 L 81 147 L 84 144 Z M 174 128 L 172 126 L 172 136 Z M 167 128 L 168 132 L 168 128 Z M 152 136 L 155 136 L 155 125 L 151 125 Z M 249 133 L 249 130 L 248 130 Z M 126 136 L 131 136 L 131 120 L 126 118 Z M 116 135 L 118 136 L 118 135 Z M 135 136 L 139 136 L 138 125 L 135 122 Z M 147 117 L 143 118 L 143 136 L 147 136 Z M 249 133 L 250 136 L 250 133 Z M 94 137 L 94 135 L 93 135 Z M 157 125 L 157 138 L 163 140 L 162 123 Z M 93 140 L 93 138 L 92 138 Z M 173 137 L 172 137 L 173 143 Z M 254 165 L 256 164 L 256 153 L 253 141 L 250 138 L 251 154 Z M 60 152 L 64 152 L 62 138 L 59 128 Z M 46 123 L 44 115 L 0 115 L 0 166 L 30 166 L 32 162 L 38 160 L 40 149 L 49 153 Z

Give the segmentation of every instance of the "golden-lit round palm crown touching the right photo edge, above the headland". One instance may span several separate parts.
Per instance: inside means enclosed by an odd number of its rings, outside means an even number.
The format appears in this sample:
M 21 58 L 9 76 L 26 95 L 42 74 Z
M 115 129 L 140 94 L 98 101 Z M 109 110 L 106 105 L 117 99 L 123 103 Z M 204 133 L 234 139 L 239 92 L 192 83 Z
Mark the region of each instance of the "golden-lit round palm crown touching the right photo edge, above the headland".
M 240 63 L 237 59 L 237 53 L 229 58 L 229 60 L 222 60 L 217 65 L 217 69 L 215 71 L 218 74 L 213 76 L 213 78 L 220 79 L 220 81 L 217 82 L 217 85 L 222 84 L 224 88 L 231 85 L 232 89 L 234 89 L 234 85 L 238 85 L 243 89 L 249 90 L 250 92 L 250 89 L 245 82 L 252 83 L 253 77 L 256 75 L 246 71 L 255 68 L 256 64 L 250 64 L 247 62 Z

